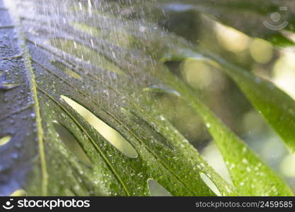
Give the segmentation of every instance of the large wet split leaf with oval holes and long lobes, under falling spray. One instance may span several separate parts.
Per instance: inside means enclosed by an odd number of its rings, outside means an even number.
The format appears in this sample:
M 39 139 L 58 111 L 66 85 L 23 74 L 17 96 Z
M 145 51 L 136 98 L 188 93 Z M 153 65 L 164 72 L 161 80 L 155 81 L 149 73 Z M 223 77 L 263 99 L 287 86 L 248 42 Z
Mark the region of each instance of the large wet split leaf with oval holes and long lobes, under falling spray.
M 209 15 L 243 8 L 257 20 L 279 5 L 267 2 L 261 9 L 258 0 L 6 3 L 9 11 L 0 1 L 0 194 L 23 189 L 28 195 L 149 196 L 149 185 L 158 182 L 173 196 L 293 195 L 167 63 L 190 58 L 224 71 L 293 153 L 294 100 L 157 23 L 166 16 L 162 8 L 179 12 L 175 4 Z M 222 17 L 219 21 L 233 25 Z M 293 18 L 289 14 L 290 22 Z M 240 30 L 257 36 L 255 28 Z M 286 30 L 294 28 L 290 24 Z M 277 31 L 259 36 L 273 45 L 294 45 Z M 233 186 L 163 117 L 155 93 L 175 95 L 199 114 Z M 105 133 L 114 130 L 117 139 Z

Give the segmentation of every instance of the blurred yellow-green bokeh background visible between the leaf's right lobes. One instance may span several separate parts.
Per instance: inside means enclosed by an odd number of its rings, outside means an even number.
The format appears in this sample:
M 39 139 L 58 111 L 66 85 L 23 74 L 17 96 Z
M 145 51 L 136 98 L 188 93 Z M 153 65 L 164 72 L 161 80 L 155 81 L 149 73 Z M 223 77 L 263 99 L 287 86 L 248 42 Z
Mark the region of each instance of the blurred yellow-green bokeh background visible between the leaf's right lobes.
M 256 76 L 272 81 L 295 99 L 295 54 L 291 45 L 279 47 L 273 45 L 274 42 L 249 37 L 239 30 L 216 22 L 211 16 L 196 11 L 166 14 L 168 18 L 160 25 L 168 31 L 219 54 Z M 240 13 L 231 18 L 236 28 L 247 30 L 248 23 L 241 20 L 240 16 L 243 17 L 244 14 Z M 270 13 L 270 16 L 274 15 Z M 269 31 L 262 22 L 257 25 L 260 25 L 262 34 Z M 283 35 L 284 30 L 279 33 Z M 288 32 L 288 36 L 290 40 L 294 39 L 293 33 Z M 248 143 L 260 158 L 279 172 L 295 191 L 295 155 L 287 151 L 279 136 L 228 76 L 216 67 L 194 59 L 170 62 L 167 65 L 202 95 L 217 116 Z M 218 149 L 202 120 L 190 106 L 171 95 L 160 95 L 158 107 L 166 112 L 170 122 L 202 153 L 209 164 L 230 182 L 229 172 Z

